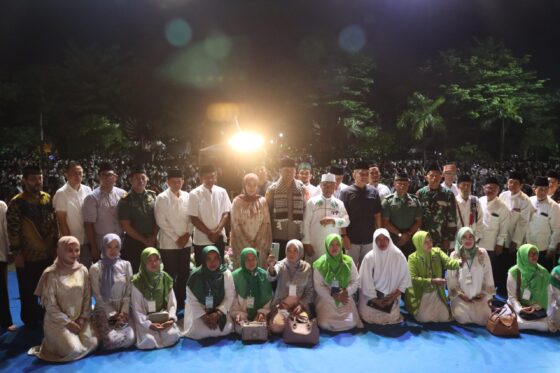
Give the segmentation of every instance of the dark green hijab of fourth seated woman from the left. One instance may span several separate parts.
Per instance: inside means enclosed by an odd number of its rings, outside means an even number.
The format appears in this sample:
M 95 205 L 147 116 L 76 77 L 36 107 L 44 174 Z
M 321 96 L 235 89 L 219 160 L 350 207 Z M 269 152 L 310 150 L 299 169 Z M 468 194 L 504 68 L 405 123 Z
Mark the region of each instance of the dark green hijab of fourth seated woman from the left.
M 206 257 L 211 252 L 215 252 L 220 258 L 220 266 L 215 271 L 209 270 L 206 266 Z M 216 246 L 206 246 L 201 253 L 201 263 L 200 266 L 192 271 L 187 286 L 201 304 L 206 303 L 207 295 L 212 295 L 215 307 L 222 303 L 226 295 L 224 286 L 226 267 L 222 263 L 222 257 L 218 248 Z

